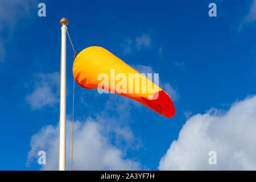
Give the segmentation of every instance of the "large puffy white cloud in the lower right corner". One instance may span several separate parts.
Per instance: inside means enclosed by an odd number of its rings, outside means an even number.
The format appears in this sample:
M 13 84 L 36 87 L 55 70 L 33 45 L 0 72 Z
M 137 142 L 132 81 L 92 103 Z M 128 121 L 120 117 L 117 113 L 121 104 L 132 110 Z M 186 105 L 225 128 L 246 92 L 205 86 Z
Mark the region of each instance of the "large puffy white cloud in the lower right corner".
M 256 96 L 236 102 L 225 113 L 211 109 L 183 126 L 160 160 L 160 170 L 255 170 Z M 209 165 L 209 151 L 217 164 Z

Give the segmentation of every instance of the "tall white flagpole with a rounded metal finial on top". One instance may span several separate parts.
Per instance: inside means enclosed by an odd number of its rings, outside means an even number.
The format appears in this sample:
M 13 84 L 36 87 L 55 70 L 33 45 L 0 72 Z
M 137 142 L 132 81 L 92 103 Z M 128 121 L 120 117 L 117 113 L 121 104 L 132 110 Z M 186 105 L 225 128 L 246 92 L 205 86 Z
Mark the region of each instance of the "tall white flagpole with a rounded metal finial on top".
M 59 171 L 66 169 L 66 34 L 68 20 L 60 20 L 61 27 L 61 68 L 60 68 L 60 144 Z

